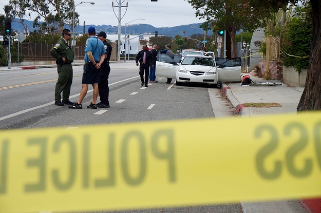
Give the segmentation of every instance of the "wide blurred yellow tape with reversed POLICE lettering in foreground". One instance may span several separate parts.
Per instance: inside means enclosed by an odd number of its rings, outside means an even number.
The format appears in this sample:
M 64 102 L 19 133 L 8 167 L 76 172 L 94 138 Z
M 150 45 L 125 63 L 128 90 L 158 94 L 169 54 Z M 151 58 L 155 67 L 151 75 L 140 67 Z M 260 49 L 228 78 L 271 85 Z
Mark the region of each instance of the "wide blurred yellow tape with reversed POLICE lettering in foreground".
M 0 212 L 321 196 L 321 113 L 0 132 Z

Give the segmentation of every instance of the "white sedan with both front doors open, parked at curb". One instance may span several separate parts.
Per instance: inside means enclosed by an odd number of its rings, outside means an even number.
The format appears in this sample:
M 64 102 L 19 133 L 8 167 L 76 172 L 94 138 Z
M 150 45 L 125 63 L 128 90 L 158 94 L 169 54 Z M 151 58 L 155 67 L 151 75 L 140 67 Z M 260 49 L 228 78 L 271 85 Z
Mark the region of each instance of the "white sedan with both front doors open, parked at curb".
M 186 82 L 217 85 L 219 82 L 240 81 L 241 59 L 227 60 L 219 67 L 215 59 L 205 55 L 186 55 L 177 64 L 166 54 L 159 54 L 156 62 L 156 75 L 176 79 L 176 85 Z

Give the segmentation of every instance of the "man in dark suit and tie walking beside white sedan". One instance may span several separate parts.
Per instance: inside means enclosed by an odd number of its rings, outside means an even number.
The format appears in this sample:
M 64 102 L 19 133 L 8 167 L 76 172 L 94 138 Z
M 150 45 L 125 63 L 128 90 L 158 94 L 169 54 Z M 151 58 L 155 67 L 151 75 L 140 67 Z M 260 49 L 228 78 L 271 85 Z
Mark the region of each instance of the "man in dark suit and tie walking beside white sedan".
M 141 86 L 145 84 L 145 87 L 148 87 L 148 74 L 149 74 L 149 64 L 152 64 L 152 67 L 155 66 L 156 58 L 154 55 L 147 50 L 147 45 L 143 45 L 143 50 L 139 51 L 136 56 L 136 65 L 139 66 L 139 75 L 141 80 Z M 144 81 L 144 72 L 145 72 L 145 81 Z

